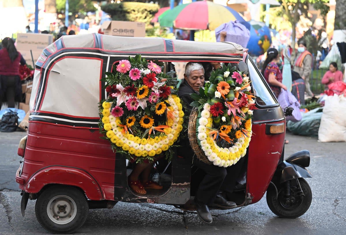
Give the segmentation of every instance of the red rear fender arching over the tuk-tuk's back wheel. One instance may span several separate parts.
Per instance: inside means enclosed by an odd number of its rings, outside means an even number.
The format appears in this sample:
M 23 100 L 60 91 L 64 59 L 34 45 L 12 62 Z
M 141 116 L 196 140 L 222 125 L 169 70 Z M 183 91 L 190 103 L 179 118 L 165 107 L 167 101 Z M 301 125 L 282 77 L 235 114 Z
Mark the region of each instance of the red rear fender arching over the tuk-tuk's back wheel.
M 102 191 L 91 175 L 81 169 L 62 166 L 47 167 L 38 171 L 25 184 L 24 191 L 36 194 L 49 184 L 76 186 L 81 188 L 90 200 L 103 200 Z

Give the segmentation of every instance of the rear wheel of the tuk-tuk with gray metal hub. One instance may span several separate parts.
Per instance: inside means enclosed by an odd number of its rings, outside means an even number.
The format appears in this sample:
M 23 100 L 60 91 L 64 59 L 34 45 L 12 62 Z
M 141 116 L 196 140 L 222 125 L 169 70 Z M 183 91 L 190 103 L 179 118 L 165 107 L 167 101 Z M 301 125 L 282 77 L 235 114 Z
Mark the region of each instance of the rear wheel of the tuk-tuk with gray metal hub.
M 38 197 L 35 213 L 47 231 L 74 233 L 88 217 L 88 201 L 83 192 L 71 186 L 52 186 Z

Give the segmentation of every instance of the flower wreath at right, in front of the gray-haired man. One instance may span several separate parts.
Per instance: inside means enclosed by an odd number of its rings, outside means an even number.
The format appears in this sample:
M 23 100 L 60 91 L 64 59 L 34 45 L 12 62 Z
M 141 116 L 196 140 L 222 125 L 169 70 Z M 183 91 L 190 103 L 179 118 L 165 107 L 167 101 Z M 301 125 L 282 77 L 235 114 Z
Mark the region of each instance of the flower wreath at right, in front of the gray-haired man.
M 230 75 L 231 74 L 231 75 Z M 212 72 L 210 82 L 191 94 L 198 107 L 196 135 L 200 148 L 216 166 L 231 166 L 246 154 L 252 136 L 255 105 L 249 78 L 236 67 L 224 65 Z

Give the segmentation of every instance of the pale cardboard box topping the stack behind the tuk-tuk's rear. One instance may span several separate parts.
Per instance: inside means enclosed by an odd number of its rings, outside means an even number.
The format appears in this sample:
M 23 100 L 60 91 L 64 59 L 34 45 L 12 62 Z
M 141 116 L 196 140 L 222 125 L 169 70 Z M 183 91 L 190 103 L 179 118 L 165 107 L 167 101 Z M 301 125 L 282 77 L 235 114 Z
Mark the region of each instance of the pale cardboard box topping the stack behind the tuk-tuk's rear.
M 53 43 L 51 34 L 17 34 L 17 50 L 36 50 L 41 51 Z

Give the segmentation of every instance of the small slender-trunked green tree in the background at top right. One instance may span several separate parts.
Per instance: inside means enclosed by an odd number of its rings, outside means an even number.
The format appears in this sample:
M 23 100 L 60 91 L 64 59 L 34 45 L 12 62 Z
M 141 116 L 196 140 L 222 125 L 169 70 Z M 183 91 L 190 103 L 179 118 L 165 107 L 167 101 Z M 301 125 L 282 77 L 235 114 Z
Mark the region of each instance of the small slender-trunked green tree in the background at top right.
M 301 15 L 307 16 L 309 4 L 313 4 L 316 10 L 321 10 L 321 15 L 326 15 L 329 6 L 326 4 L 329 0 L 281 0 L 283 6 L 283 15 L 288 18 L 292 26 L 292 38 L 295 39 L 295 26 Z M 291 46 L 294 48 L 295 40 L 292 40 Z

